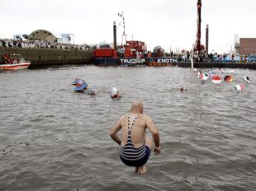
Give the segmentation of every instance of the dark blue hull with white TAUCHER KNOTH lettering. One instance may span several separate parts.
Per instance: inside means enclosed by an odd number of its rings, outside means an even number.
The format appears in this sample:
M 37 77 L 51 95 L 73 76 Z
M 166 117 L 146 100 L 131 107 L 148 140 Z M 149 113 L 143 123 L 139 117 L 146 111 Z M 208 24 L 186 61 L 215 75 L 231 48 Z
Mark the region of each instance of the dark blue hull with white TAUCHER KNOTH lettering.
M 155 57 L 155 58 L 94 58 L 97 66 L 173 66 L 178 64 L 178 58 Z M 136 62 L 136 63 L 135 63 Z

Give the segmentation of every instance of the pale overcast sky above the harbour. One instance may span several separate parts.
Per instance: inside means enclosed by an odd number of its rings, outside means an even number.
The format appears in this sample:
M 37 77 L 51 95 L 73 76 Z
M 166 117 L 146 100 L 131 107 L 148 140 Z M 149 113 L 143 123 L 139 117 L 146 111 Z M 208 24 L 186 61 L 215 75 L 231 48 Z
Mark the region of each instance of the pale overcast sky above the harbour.
M 75 44 L 121 44 L 124 12 L 127 40 L 145 41 L 149 50 L 191 49 L 197 33 L 197 0 L 0 0 L 0 38 L 49 30 L 74 34 Z M 255 0 L 201 0 L 201 44 L 209 25 L 209 52 L 229 52 L 235 37 L 256 38 Z

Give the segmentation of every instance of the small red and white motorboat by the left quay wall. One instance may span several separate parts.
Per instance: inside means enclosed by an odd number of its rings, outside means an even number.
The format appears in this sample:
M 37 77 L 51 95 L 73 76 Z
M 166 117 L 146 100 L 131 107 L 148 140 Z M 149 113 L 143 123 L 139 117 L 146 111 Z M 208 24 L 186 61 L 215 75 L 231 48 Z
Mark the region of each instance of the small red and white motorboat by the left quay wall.
M 26 61 L 21 54 L 5 54 L 2 57 L 0 70 L 19 70 L 28 68 L 31 65 L 30 61 Z

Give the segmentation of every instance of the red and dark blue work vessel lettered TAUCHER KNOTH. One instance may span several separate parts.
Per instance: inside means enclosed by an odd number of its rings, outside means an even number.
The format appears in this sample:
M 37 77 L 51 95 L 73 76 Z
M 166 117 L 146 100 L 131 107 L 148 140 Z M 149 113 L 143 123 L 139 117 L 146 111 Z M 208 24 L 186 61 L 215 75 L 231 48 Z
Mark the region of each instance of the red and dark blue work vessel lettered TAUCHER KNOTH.
M 139 40 L 126 40 L 125 44 L 121 43 L 121 46 L 117 47 L 115 21 L 113 33 L 113 48 L 109 44 L 102 44 L 94 51 L 94 63 L 97 66 L 173 66 L 178 63 L 178 58 L 164 57 L 163 49 L 154 49 L 153 53 L 149 52 L 145 42 Z M 125 27 L 123 36 L 126 37 Z

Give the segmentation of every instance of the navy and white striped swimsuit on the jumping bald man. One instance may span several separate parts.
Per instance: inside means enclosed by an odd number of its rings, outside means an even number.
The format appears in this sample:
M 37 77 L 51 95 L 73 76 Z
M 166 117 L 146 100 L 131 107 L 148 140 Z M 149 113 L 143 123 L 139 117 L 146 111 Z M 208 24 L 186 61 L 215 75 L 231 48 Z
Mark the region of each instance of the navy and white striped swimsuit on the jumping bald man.
M 121 147 L 120 158 L 123 163 L 130 166 L 141 166 L 145 165 L 145 163 L 149 159 L 150 149 L 145 145 L 145 141 L 143 145 L 139 148 L 135 148 L 131 141 L 130 133 L 132 127 L 135 123 L 135 120 L 139 117 L 139 114 L 136 115 L 134 121 L 130 124 L 130 114 L 128 114 L 128 137 L 127 142 L 124 147 Z

